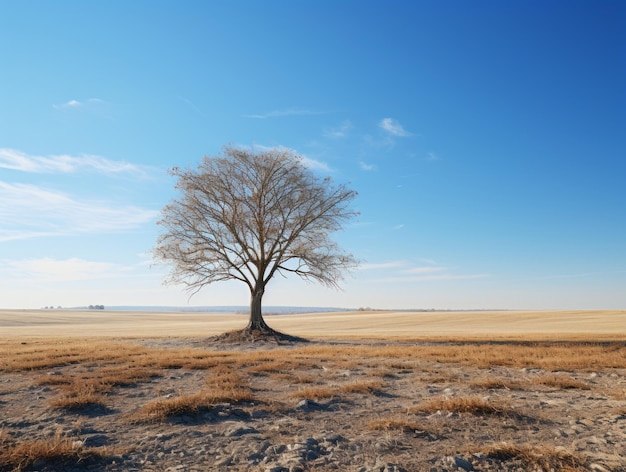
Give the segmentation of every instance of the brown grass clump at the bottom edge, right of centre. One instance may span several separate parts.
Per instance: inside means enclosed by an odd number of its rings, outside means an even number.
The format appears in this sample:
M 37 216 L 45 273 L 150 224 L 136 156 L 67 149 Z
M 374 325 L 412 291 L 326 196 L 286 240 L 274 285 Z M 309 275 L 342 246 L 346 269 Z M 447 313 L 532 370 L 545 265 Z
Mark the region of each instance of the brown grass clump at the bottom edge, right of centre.
M 583 471 L 586 461 L 562 449 L 546 446 L 515 446 L 507 443 L 482 451 L 488 457 L 501 461 L 521 460 L 527 470 Z

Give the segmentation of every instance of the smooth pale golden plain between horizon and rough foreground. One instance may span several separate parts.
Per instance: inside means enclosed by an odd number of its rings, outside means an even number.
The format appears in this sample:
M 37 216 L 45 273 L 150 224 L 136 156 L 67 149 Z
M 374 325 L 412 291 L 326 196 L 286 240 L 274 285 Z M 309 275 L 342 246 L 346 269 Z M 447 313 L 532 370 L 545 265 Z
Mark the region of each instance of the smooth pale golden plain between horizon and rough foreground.
M 342 312 L 267 316 L 313 338 L 626 339 L 626 310 Z M 245 327 L 237 314 L 107 310 L 0 310 L 0 337 L 212 336 Z

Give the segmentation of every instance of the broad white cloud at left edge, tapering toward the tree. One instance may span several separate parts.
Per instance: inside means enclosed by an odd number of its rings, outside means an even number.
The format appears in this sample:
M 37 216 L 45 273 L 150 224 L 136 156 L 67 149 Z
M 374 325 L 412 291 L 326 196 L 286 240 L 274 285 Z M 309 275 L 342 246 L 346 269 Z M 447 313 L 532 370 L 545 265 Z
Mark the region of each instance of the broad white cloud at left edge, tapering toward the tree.
M 0 242 L 44 236 L 128 231 L 158 211 L 89 201 L 30 184 L 0 181 Z

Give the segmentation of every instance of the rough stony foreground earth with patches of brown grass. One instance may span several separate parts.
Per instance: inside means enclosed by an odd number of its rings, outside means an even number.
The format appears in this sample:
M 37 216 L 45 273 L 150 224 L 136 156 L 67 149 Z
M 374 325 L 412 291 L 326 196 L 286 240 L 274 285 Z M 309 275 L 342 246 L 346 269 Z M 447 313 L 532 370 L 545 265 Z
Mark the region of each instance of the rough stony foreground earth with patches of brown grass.
M 0 470 L 626 471 L 624 346 L 615 350 L 617 367 L 556 372 L 440 360 L 402 343 L 236 349 L 168 338 L 108 341 L 101 349 L 128 346 L 150 375 L 113 385 L 102 402 L 79 407 L 55 403 L 64 382 L 94 378 L 111 368 L 109 361 L 91 355 L 0 369 L 4 452 L 36 440 L 63 440 L 74 451 L 26 455 L 19 463 L 0 457 Z M 197 362 L 164 361 L 181 352 Z M 146 410 L 193 397 L 216 369 L 236 374 L 250 397 L 164 415 Z M 463 409 L 463 402 L 483 408 Z

